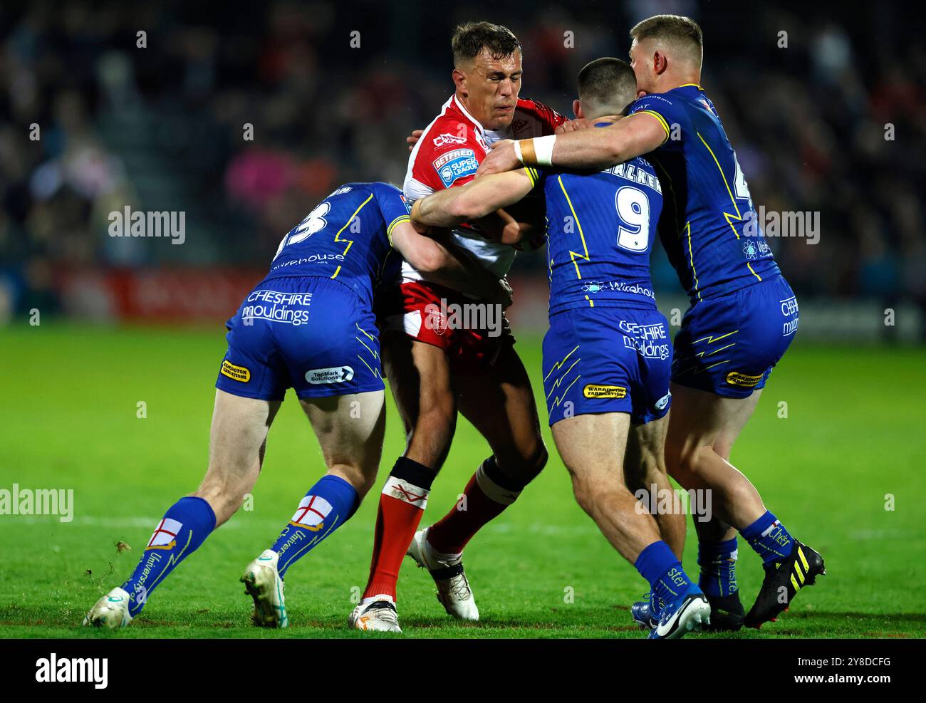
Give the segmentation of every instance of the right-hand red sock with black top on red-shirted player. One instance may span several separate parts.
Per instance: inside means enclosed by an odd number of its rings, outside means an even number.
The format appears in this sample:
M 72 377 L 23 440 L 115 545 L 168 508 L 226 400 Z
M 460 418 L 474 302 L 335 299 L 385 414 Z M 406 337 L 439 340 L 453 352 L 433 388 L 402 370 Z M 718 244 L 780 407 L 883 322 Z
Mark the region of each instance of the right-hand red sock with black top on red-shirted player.
M 499 484 L 512 485 L 500 475 L 495 458 L 490 457 L 469 479 L 463 495 L 466 502 L 457 502 L 450 512 L 435 522 L 428 531 L 428 544 L 442 554 L 459 554 L 482 525 L 493 520 L 515 502 L 521 489 L 511 490 Z

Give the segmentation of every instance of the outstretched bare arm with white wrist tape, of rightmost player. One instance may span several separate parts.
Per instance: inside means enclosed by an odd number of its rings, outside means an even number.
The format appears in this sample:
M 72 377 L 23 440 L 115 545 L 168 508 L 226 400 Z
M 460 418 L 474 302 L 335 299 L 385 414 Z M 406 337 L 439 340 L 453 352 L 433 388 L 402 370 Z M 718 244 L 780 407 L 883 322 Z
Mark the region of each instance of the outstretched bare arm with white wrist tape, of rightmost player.
M 521 165 L 607 169 L 648 154 L 667 138 L 665 127 L 656 117 L 639 113 L 600 130 L 579 130 L 519 142 L 497 142 L 482 160 L 476 175 L 501 173 Z

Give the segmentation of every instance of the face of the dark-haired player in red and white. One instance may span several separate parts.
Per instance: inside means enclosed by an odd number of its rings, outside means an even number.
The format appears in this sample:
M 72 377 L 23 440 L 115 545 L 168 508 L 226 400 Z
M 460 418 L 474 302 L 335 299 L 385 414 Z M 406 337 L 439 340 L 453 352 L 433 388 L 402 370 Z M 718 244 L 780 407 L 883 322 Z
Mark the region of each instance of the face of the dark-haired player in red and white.
M 521 79 L 521 55 L 495 60 L 482 49 L 469 65 L 457 69 L 462 80 L 457 90 L 466 96 L 469 114 L 486 130 L 499 130 L 511 124 L 518 104 Z

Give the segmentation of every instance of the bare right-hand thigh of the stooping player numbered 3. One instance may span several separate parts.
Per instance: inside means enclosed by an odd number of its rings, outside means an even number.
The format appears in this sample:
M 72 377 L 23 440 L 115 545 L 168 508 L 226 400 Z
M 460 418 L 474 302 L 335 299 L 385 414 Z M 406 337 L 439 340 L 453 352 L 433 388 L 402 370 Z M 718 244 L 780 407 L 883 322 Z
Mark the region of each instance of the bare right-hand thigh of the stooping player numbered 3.
M 385 433 L 383 391 L 300 398 L 325 465 L 359 471 L 372 481 Z

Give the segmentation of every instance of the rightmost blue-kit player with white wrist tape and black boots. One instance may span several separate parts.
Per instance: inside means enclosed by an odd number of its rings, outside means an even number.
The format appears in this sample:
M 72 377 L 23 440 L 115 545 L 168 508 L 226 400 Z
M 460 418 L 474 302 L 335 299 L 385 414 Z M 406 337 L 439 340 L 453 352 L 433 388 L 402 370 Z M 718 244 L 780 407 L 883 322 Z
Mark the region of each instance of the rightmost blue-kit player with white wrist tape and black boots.
M 657 15 L 633 27 L 631 37 L 641 97 L 627 119 L 603 130 L 502 143 L 479 173 L 551 164 L 601 169 L 641 155 L 656 167 L 666 197 L 660 238 L 691 299 L 675 337 L 666 461 L 684 488 L 713 492 L 715 519 L 695 523 L 699 584 L 711 601 L 712 620 L 730 629 L 759 627 L 825 572 L 820 554 L 788 533 L 728 460 L 771 369 L 794 338 L 797 303 L 757 227 L 717 110 L 700 86 L 700 27 L 692 19 Z M 745 616 L 735 576 L 736 532 L 765 568 Z M 649 608 L 659 609 L 657 599 Z

